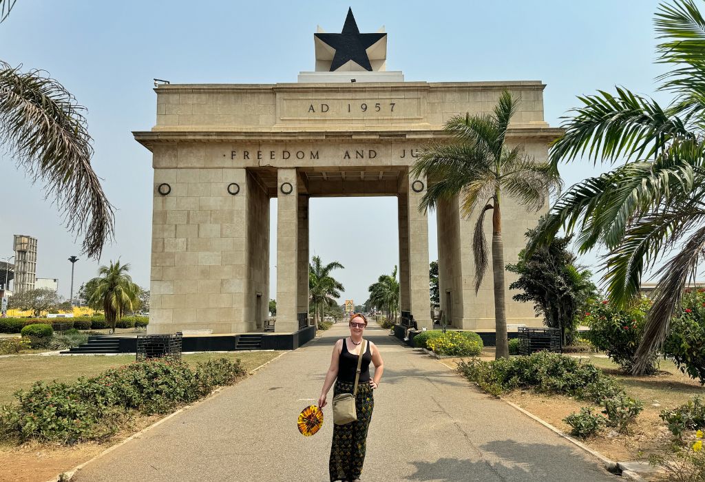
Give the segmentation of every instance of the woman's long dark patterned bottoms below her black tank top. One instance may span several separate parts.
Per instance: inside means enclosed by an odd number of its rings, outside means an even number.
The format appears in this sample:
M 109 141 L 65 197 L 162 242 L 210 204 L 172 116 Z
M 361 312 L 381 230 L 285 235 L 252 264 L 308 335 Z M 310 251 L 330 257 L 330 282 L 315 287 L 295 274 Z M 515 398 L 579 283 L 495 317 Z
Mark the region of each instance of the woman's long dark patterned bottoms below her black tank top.
M 337 381 L 333 397 L 339 393 L 353 393 L 353 383 Z M 355 397 L 357 421 L 333 426 L 333 445 L 329 471 L 332 481 L 354 481 L 360 478 L 364 452 L 367 449 L 367 428 L 372 419 L 374 395 L 369 383 L 357 384 Z

